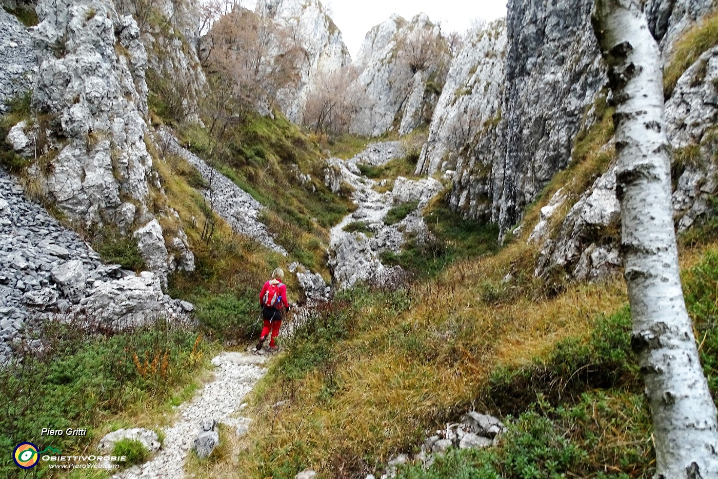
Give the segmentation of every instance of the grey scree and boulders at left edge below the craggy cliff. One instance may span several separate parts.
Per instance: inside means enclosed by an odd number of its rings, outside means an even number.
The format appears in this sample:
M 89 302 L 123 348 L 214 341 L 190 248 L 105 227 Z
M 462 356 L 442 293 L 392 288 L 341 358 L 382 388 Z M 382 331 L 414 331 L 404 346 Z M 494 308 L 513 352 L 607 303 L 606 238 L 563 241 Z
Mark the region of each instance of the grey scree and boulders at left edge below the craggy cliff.
M 47 317 L 91 312 L 92 321 L 121 329 L 191 309 L 164 295 L 154 273 L 103 264 L 0 169 L 0 363 Z

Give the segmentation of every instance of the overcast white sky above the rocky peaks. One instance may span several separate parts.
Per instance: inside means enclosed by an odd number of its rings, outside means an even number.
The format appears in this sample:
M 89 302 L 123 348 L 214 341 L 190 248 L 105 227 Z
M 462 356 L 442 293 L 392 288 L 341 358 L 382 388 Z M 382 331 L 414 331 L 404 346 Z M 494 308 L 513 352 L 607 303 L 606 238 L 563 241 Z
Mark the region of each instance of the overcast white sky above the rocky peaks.
M 254 3 L 242 2 L 251 9 Z M 391 14 L 409 20 L 423 11 L 432 22 L 441 22 L 445 32 L 464 31 L 476 18 L 491 21 L 506 14 L 506 0 L 322 0 L 322 4 L 330 9 L 353 58 L 366 32 Z

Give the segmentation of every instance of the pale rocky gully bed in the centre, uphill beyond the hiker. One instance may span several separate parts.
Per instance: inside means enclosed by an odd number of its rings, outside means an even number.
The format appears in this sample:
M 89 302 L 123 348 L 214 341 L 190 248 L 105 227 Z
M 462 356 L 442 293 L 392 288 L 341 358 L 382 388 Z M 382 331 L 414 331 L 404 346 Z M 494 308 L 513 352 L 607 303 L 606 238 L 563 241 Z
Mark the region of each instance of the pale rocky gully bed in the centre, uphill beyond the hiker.
M 332 228 L 330 233 L 330 264 L 340 287 L 352 287 L 386 268 L 380 255 L 384 251 L 398 253 L 406 243 L 406 235 L 425 236 L 426 224 L 421 217 L 421 208 L 442 190 L 443 186 L 433 178 L 409 180 L 398 177 L 393 188 L 379 192 L 377 187 L 386 187 L 388 180 L 377 182 L 362 174 L 357 164 L 381 166 L 392 159 L 403 156 L 404 150 L 398 141 L 370 144 L 355 157 L 343 160 L 332 158 L 325 177 L 332 189 L 340 188 L 342 182 L 353 188 L 352 199 L 358 208 Z M 384 218 L 391 208 L 403 203 L 419 202 L 409 215 L 400 222 L 386 225 Z M 345 231 L 351 223 L 366 223 L 369 234 Z

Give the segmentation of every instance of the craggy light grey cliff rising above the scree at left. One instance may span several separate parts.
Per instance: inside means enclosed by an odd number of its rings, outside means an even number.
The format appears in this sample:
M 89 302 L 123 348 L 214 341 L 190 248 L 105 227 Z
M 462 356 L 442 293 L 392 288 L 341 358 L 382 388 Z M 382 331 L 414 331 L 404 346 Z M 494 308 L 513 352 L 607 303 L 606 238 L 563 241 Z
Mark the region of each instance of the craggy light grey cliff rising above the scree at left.
M 163 283 L 169 271 L 193 269 L 176 216 L 156 201 L 164 191 L 148 151 L 147 54 L 136 21 L 109 1 L 41 0 L 37 14 L 32 114 L 8 136 L 29 160 L 28 187 L 80 229 L 134 235 Z

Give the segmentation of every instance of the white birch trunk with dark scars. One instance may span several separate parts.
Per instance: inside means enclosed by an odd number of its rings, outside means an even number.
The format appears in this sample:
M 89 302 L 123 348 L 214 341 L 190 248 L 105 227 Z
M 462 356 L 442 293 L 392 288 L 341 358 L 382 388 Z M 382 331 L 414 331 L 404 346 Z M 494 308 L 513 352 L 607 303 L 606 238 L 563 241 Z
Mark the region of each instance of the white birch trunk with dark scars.
M 593 27 L 616 105 L 621 246 L 632 346 L 653 418 L 655 477 L 718 478 L 716 407 L 679 276 L 660 52 L 640 0 L 595 0 Z

